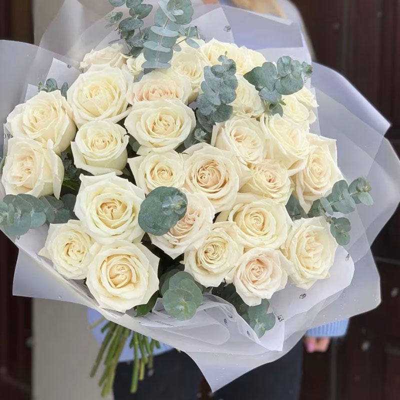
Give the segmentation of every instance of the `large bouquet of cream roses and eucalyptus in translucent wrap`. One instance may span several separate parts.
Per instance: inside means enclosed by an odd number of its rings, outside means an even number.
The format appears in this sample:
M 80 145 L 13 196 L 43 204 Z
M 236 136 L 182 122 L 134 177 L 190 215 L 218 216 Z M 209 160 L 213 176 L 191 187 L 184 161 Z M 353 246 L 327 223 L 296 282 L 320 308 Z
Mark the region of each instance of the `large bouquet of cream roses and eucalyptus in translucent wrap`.
M 104 360 L 102 394 L 126 343 L 132 391 L 157 340 L 217 389 L 307 328 L 376 306 L 369 244 L 399 199 L 387 122 L 306 62 L 289 25 L 189 0 L 109 2 L 119 37 L 104 47 L 98 22 L 87 27 L 78 43 L 100 45 L 79 69 L 1 42 L 15 54 L 2 61 L 10 93 L 29 83 L 22 103 L 1 106 L 14 293 L 108 320 L 92 370 Z M 267 48 L 274 29 L 281 44 Z M 11 79 L 13 62 L 32 65 L 27 81 Z

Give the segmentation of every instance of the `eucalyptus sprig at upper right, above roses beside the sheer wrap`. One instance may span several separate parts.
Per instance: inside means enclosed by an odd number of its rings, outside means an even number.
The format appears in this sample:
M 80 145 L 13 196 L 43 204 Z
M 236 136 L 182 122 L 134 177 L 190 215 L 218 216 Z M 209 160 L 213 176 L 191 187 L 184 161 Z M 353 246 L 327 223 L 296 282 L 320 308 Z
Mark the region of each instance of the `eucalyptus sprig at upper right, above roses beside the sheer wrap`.
M 259 96 L 267 102 L 271 114 L 283 115 L 282 95 L 293 94 L 304 85 L 304 79 L 312 73 L 311 65 L 300 63 L 285 55 L 275 64 L 264 62 L 244 74 L 259 92 Z

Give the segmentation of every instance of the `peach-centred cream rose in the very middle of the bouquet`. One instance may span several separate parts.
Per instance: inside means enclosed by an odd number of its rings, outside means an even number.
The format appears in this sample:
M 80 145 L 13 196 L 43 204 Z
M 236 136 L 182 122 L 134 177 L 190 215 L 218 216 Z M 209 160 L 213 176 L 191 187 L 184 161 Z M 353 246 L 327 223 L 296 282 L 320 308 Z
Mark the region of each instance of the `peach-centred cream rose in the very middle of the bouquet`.
M 204 143 L 187 148 L 184 154 L 184 187 L 192 193 L 205 194 L 215 212 L 230 209 L 240 187 L 241 175 L 233 154 Z

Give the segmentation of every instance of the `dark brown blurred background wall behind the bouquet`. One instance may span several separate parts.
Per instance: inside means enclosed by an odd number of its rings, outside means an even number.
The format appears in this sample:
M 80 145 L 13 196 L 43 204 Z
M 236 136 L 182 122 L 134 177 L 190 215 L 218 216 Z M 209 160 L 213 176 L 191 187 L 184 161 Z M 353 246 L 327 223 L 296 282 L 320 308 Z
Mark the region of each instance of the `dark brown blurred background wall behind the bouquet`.
M 0 0 L 0 38 L 33 42 L 33 32 L 41 36 L 61 2 Z M 104 2 L 95 2 L 99 11 Z M 392 122 L 386 136 L 400 154 L 400 1 L 293 2 L 303 15 L 317 61 L 340 71 Z M 305 355 L 304 400 L 400 397 L 399 227 L 397 211 L 373 244 L 381 274 L 381 305 L 352 318 L 346 338 L 333 342 L 328 352 Z M 0 254 L 0 393 L 7 393 L 7 400 L 27 400 L 31 300 L 11 296 L 16 251 L 2 233 Z

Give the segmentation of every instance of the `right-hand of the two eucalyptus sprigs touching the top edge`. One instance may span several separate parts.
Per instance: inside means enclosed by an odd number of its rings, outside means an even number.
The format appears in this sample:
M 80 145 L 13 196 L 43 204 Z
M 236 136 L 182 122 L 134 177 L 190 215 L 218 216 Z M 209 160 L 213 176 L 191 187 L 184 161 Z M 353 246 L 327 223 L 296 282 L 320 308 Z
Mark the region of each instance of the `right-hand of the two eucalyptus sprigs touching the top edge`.
M 148 40 L 143 44 L 143 55 L 146 59 L 143 68 L 145 69 L 170 66 L 168 61 L 172 58 L 179 29 L 181 25 L 190 23 L 193 15 L 190 0 L 159 1 L 158 4 L 154 25 L 150 27 Z

